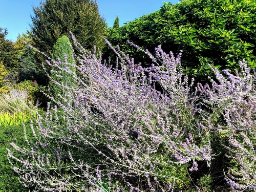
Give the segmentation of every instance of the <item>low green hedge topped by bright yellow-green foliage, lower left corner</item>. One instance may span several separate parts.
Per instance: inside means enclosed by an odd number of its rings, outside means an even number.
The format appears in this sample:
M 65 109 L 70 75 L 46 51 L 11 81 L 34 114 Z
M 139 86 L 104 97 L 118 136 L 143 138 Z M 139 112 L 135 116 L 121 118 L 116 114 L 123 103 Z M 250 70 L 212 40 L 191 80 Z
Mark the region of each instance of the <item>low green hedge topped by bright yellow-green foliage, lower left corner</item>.
M 38 109 L 38 113 L 40 115 L 44 114 L 45 112 Z M 9 121 L 9 123 L 3 122 L 2 118 L 0 118 L 0 192 L 2 191 L 28 191 L 29 189 L 32 189 L 33 187 L 27 187 L 25 188 L 22 183 L 18 181 L 17 174 L 12 170 L 12 166 L 8 161 L 7 158 L 7 148 L 12 148 L 11 142 L 15 143 L 16 145 L 20 147 L 28 147 L 28 144 L 24 138 L 24 125 L 27 127 L 26 129 L 26 135 L 27 138 L 35 143 L 35 139 L 33 138 L 32 130 L 29 129 L 30 127 L 30 119 L 31 116 L 27 116 L 23 114 L 23 118 L 20 118 L 20 115 L 23 113 L 20 113 L 19 116 L 12 115 L 9 116 L 6 114 L 6 118 L 12 119 L 12 121 Z M 4 115 L 4 114 L 0 114 Z M 37 115 L 33 115 L 34 118 L 38 119 Z M 17 124 L 16 122 L 19 122 Z M 14 162 L 13 162 L 14 163 Z M 16 165 L 14 163 L 14 165 Z

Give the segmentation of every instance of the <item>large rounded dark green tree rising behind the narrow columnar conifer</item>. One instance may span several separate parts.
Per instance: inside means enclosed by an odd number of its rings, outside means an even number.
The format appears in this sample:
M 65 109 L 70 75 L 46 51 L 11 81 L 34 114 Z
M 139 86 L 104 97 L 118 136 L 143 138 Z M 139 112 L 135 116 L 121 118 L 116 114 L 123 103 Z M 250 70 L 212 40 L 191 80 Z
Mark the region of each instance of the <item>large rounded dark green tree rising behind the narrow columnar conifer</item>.
M 102 48 L 106 30 L 96 1 L 46 0 L 33 7 L 32 34 L 34 46 L 52 54 L 53 45 L 62 35 L 72 32 L 86 49 Z

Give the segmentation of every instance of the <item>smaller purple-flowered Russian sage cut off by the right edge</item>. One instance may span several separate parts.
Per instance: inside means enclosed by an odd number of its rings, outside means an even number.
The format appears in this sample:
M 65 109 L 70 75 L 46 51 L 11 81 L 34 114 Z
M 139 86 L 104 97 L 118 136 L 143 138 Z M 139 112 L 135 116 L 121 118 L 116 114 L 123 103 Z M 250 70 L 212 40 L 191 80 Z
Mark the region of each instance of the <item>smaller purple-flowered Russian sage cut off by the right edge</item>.
M 212 88 L 199 84 L 203 102 L 212 110 L 212 123 L 216 117 L 222 117 L 216 123 L 215 130 L 220 144 L 225 148 L 226 157 L 230 159 L 224 167 L 225 180 L 233 190 L 256 189 L 256 91 L 255 71 L 245 62 L 239 62 L 241 73 L 233 75 L 223 70 L 225 78 L 214 70 L 219 83 L 211 80 Z M 226 142 L 224 142 L 226 140 Z

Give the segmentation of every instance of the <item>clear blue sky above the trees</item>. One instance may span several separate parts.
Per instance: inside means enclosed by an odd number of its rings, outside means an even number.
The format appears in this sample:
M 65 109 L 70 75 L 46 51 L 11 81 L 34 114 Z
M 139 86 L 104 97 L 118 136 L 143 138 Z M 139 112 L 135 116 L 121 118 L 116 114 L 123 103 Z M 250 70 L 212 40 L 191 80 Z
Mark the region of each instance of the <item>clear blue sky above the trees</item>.
M 32 6 L 39 6 L 41 0 L 0 0 L 0 27 L 8 29 L 7 39 L 15 41 L 18 34 L 30 29 Z M 162 0 L 97 0 L 100 14 L 109 27 L 113 26 L 116 16 L 120 26 L 142 15 L 157 11 L 163 5 Z M 178 0 L 170 0 L 172 4 Z

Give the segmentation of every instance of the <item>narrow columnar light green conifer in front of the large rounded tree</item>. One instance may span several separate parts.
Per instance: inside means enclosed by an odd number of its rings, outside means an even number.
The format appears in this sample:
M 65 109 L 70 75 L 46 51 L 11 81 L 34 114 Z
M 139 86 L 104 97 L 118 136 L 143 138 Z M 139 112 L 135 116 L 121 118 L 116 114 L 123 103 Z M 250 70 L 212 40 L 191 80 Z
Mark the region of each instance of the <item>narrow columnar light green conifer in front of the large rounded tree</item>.
M 67 73 L 66 71 L 66 68 L 69 68 L 72 72 L 75 71 L 75 69 L 71 66 L 74 64 L 73 50 L 69 38 L 66 35 L 58 38 L 53 48 L 53 58 L 61 63 L 59 63 L 60 69 L 55 68 L 55 70 L 53 70 L 51 73 L 52 79 L 50 81 L 50 92 L 55 99 L 59 99 L 58 94 L 65 96 L 65 89 L 56 85 L 53 80 L 57 82 L 62 81 L 63 84 L 67 85 L 68 87 L 74 86 L 75 80 L 72 74 Z

